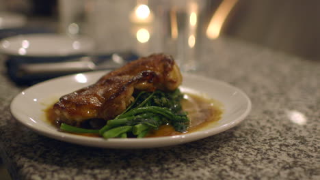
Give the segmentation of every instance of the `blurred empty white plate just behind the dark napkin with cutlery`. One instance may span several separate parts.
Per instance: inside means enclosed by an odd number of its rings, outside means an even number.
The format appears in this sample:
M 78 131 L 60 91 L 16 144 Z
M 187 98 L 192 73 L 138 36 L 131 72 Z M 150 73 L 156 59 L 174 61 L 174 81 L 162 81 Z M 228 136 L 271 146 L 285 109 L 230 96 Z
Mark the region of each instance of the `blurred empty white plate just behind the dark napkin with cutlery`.
M 88 53 L 93 46 L 88 37 L 71 38 L 67 35 L 39 33 L 16 35 L 1 40 L 0 52 L 25 57 L 62 57 Z

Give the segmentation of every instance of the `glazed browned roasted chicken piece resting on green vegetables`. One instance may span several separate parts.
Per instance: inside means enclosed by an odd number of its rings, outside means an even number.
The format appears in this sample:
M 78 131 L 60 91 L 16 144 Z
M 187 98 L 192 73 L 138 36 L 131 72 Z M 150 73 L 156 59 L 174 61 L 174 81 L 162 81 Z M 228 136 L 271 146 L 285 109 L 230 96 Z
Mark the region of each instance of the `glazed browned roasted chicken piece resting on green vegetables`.
M 109 72 L 94 85 L 60 97 L 53 105 L 55 121 L 80 126 L 88 119 L 112 119 L 133 102 L 134 91 L 172 91 L 181 82 L 181 72 L 169 55 L 142 57 Z

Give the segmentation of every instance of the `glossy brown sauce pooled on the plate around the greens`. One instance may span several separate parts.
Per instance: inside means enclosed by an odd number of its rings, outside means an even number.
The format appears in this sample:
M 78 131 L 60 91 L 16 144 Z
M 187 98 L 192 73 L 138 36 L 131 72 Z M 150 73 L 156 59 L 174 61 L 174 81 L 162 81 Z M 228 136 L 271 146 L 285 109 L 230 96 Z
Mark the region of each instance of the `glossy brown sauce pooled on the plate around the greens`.
M 201 130 L 208 127 L 212 123 L 219 121 L 222 117 L 222 106 L 215 100 L 207 99 L 200 95 L 185 93 L 182 100 L 183 110 L 188 112 L 190 119 L 189 130 L 187 132 L 176 132 L 171 125 L 161 125 L 158 130 L 152 130 L 146 137 L 161 137 L 186 134 Z M 55 121 L 55 113 L 52 106 L 45 110 L 46 121 L 52 125 L 59 127 L 59 123 Z M 97 136 L 96 134 L 79 134 L 81 136 Z

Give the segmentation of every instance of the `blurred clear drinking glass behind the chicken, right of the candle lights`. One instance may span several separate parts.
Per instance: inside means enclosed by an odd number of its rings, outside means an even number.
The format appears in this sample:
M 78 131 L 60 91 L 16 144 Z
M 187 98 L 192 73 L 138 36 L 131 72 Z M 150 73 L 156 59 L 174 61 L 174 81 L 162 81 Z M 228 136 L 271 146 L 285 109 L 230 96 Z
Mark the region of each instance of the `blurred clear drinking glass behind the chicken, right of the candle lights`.
M 152 1 L 156 10 L 162 50 L 176 59 L 183 71 L 197 70 L 205 0 Z

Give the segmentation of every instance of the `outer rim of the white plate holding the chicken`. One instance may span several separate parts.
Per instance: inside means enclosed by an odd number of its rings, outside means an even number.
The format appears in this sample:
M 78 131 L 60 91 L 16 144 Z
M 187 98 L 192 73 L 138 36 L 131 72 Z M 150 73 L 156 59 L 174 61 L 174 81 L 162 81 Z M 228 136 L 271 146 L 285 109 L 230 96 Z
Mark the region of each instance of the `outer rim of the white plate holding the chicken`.
M 97 74 L 103 75 L 103 72 L 106 73 L 108 71 L 96 71 L 96 72 L 87 72 L 83 74 L 89 74 L 91 76 L 98 76 Z M 205 80 L 214 81 L 216 83 L 219 83 L 221 85 L 224 85 L 226 87 L 235 89 L 238 93 L 241 94 L 242 97 L 244 97 L 246 104 L 245 111 L 237 118 L 233 119 L 229 123 L 225 123 L 224 125 L 220 126 L 217 130 L 215 128 L 209 128 L 208 130 L 200 130 L 196 132 L 191 132 L 188 134 L 181 134 L 181 135 L 175 135 L 175 136 L 163 136 L 163 137 L 153 137 L 153 138 L 110 138 L 110 139 L 103 139 L 103 138 L 96 138 L 96 137 L 88 137 L 88 136 L 79 136 L 77 134 L 68 134 L 66 132 L 59 132 L 52 134 L 50 132 L 45 132 L 44 130 L 39 130 L 34 125 L 30 125 L 27 123 L 27 121 L 21 120 L 23 119 L 23 115 L 19 115 L 16 110 L 14 110 L 14 106 L 17 103 L 18 99 L 21 98 L 23 95 L 23 92 L 25 91 L 31 91 L 31 89 L 34 89 L 35 87 L 44 86 L 46 84 L 50 84 L 53 81 L 61 80 L 62 78 L 71 78 L 74 77 L 75 74 L 62 76 L 58 78 L 53 78 L 51 80 L 46 80 L 44 82 L 40 82 L 34 86 L 28 87 L 27 89 L 24 89 L 18 95 L 16 95 L 11 104 L 10 104 L 10 111 L 12 113 L 12 116 L 21 124 L 25 125 L 25 127 L 28 127 L 30 130 L 33 130 L 34 132 L 37 132 L 38 134 L 41 134 L 43 136 L 53 138 L 56 140 L 61 140 L 64 142 L 70 142 L 77 145 L 84 145 L 89 147 L 101 147 L 101 148 L 110 148 L 110 149 L 142 149 L 142 148 L 155 148 L 155 147 L 168 147 L 172 145 L 180 145 L 185 142 L 191 142 L 194 140 L 200 140 L 202 138 L 206 138 L 209 136 L 213 136 L 215 134 L 219 134 L 221 132 L 224 132 L 226 130 L 231 129 L 232 127 L 235 127 L 241 123 L 245 117 L 247 117 L 252 110 L 252 102 L 248 95 L 246 95 L 241 89 L 230 85 L 228 82 L 224 82 L 222 80 L 217 80 L 214 78 L 209 78 L 206 76 L 200 76 L 196 74 L 189 74 L 189 73 L 183 73 L 183 76 L 192 76 L 194 78 L 201 78 Z M 89 85 L 89 84 L 85 84 Z M 183 87 L 183 86 L 182 86 Z M 214 99 L 214 97 L 213 97 Z M 21 119 L 20 119 L 21 118 Z M 42 119 L 40 119 L 42 121 Z M 49 124 L 48 124 L 49 125 Z M 77 140 L 82 139 L 83 142 L 78 142 Z M 94 140 L 95 142 L 105 142 L 105 143 L 98 143 L 94 144 L 91 141 Z M 165 143 L 165 145 L 161 145 L 161 143 L 157 142 L 163 142 L 163 140 L 168 140 L 168 142 Z M 176 140 L 176 141 L 175 141 Z M 152 145 L 151 145 L 152 144 Z M 134 146 L 128 146 L 128 145 L 134 145 Z

